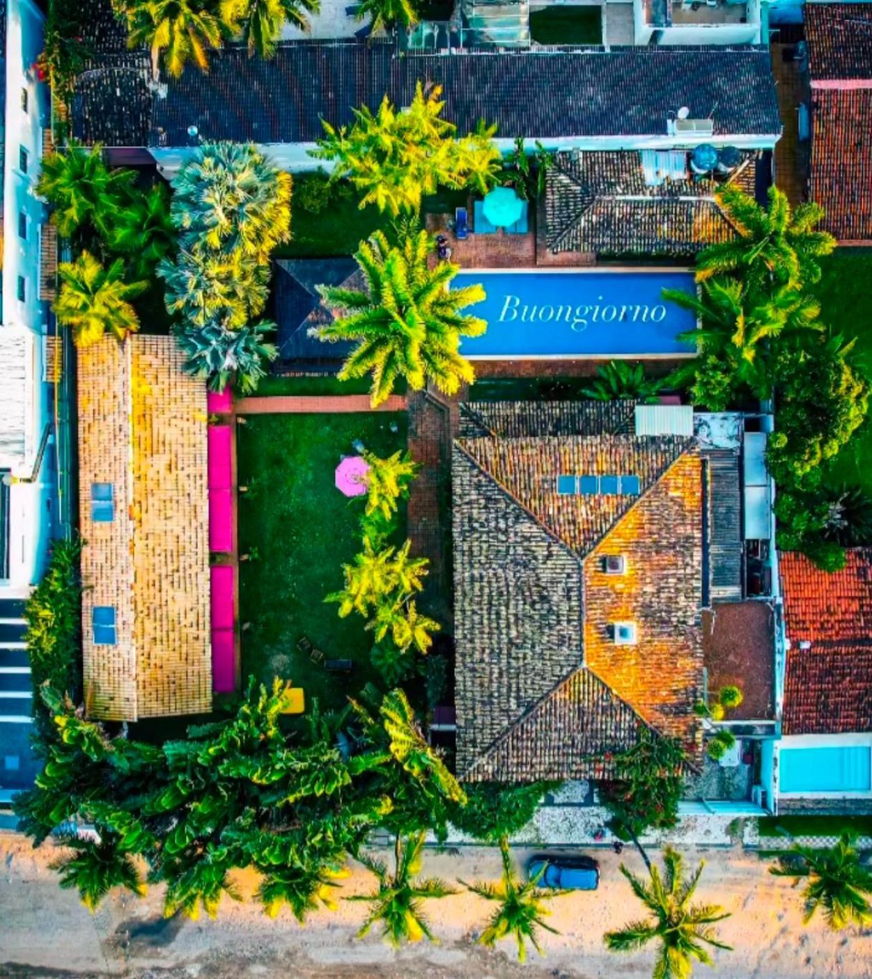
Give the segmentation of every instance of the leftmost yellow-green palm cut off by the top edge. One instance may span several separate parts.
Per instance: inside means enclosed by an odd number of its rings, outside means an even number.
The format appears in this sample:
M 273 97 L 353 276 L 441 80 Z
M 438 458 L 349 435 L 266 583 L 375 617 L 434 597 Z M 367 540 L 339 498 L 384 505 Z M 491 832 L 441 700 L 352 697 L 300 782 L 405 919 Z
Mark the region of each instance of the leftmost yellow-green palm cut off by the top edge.
M 163 60 L 173 77 L 188 62 L 209 69 L 209 49 L 230 33 L 214 0 L 117 0 L 131 48 L 148 45 L 155 74 Z

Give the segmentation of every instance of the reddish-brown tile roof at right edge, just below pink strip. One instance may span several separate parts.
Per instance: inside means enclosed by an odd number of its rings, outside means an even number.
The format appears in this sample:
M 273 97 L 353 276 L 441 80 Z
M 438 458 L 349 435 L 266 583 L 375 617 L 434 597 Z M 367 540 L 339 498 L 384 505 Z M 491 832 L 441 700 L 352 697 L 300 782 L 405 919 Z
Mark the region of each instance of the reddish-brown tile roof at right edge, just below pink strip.
M 839 241 L 872 241 L 872 88 L 813 89 L 810 196 Z

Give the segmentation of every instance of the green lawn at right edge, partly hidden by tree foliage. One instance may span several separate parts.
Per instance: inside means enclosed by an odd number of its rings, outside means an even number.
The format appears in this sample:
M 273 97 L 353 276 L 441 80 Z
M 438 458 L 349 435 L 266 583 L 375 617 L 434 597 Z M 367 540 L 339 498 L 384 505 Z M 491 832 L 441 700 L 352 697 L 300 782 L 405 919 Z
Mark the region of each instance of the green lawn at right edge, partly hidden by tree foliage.
M 824 274 L 815 287 L 821 303 L 821 319 L 845 337 L 856 337 L 866 370 L 872 374 L 872 254 L 869 249 L 837 249 L 825 258 Z M 836 459 L 830 482 L 863 486 L 872 494 L 872 419 L 857 430 Z

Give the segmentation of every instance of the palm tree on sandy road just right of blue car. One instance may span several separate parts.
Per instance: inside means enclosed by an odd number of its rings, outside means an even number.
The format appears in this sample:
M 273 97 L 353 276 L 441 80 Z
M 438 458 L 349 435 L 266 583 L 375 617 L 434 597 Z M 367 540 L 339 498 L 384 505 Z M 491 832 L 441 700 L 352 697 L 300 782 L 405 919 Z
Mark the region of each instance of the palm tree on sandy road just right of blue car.
M 728 918 L 729 912 L 717 905 L 691 904 L 705 862 L 701 861 L 688 879 L 682 874 L 682 863 L 681 857 L 667 847 L 663 851 L 663 875 L 660 876 L 659 869 L 652 866 L 648 883 L 621 863 L 621 873 L 653 917 L 631 921 L 620 931 L 606 932 L 606 947 L 612 952 L 635 952 L 649 942 L 658 942 L 660 950 L 654 964 L 654 979 L 690 979 L 693 959 L 703 965 L 713 964 L 704 945 L 730 948 L 718 940 L 716 929 L 712 927 Z

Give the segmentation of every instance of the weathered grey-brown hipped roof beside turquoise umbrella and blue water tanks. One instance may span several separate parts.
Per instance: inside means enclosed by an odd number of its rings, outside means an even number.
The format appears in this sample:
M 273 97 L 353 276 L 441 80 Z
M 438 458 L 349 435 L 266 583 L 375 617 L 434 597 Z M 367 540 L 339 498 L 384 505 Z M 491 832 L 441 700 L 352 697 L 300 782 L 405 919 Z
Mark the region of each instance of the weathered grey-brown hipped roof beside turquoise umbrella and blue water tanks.
M 548 173 L 546 241 L 552 252 L 692 256 L 735 229 L 715 194 L 724 182 L 751 196 L 761 154 L 746 153 L 727 181 L 646 183 L 637 150 L 561 153 Z

